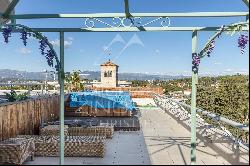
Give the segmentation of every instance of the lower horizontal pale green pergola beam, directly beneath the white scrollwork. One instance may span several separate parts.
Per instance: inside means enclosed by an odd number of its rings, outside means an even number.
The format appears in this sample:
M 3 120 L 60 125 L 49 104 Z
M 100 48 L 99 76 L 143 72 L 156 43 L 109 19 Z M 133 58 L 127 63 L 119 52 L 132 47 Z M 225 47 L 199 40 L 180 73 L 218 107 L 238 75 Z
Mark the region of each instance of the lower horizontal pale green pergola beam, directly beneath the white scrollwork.
M 144 32 L 144 31 L 219 31 L 221 27 L 114 27 L 114 28 L 31 28 L 36 32 Z M 0 30 L 1 31 L 1 30 Z M 17 32 L 18 30 L 13 30 Z M 243 27 L 242 31 L 249 31 Z

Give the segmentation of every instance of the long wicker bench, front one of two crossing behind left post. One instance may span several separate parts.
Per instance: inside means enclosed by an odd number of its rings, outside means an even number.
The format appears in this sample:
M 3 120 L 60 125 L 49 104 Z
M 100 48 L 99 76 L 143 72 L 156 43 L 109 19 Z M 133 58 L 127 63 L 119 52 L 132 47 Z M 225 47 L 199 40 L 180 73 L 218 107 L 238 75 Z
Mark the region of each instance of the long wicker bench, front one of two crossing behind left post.
M 35 142 L 35 156 L 58 157 L 60 137 L 53 136 L 18 136 L 19 138 L 31 138 Z M 104 157 L 105 137 L 96 136 L 66 136 L 66 157 Z

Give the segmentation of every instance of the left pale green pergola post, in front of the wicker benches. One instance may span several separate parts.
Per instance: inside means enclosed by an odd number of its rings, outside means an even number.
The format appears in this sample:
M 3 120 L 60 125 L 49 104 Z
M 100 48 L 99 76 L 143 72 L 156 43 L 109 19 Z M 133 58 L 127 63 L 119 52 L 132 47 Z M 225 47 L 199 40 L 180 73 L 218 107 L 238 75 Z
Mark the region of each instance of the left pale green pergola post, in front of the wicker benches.
M 60 165 L 64 165 L 64 32 L 60 32 Z

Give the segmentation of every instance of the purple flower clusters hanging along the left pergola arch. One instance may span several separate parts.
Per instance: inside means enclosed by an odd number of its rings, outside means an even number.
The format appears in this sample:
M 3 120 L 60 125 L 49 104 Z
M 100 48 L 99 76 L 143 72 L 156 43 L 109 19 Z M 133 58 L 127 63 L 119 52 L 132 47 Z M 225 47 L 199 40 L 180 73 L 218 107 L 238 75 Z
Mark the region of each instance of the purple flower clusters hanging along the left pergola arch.
M 12 28 L 13 26 L 11 25 L 7 25 L 4 28 L 2 28 L 2 35 L 4 37 L 4 42 L 5 43 L 9 43 L 9 37 L 11 37 L 11 33 L 12 33 Z M 30 32 L 28 32 L 28 30 L 24 27 L 22 27 L 20 30 L 21 33 L 21 38 L 23 41 L 24 46 L 27 46 L 27 39 L 28 37 L 30 37 L 32 34 Z M 41 54 L 45 56 L 47 63 L 50 67 L 54 66 L 54 59 L 57 62 L 57 65 L 55 65 L 55 69 L 56 71 L 59 71 L 59 60 L 56 57 L 56 53 L 55 51 L 50 47 L 49 41 L 46 37 L 42 36 L 41 34 L 37 35 L 37 34 L 33 34 L 33 37 L 36 37 L 37 39 L 39 39 L 39 49 L 41 50 Z

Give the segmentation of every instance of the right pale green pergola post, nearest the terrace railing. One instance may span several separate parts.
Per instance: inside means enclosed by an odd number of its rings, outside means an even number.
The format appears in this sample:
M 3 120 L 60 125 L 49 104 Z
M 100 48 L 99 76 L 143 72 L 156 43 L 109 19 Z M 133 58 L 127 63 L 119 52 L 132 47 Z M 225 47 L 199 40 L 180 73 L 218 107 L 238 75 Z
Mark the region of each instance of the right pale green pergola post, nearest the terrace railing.
M 197 52 L 197 31 L 192 33 L 192 53 Z M 191 100 L 191 165 L 196 164 L 196 93 L 198 73 L 192 72 L 192 100 Z

